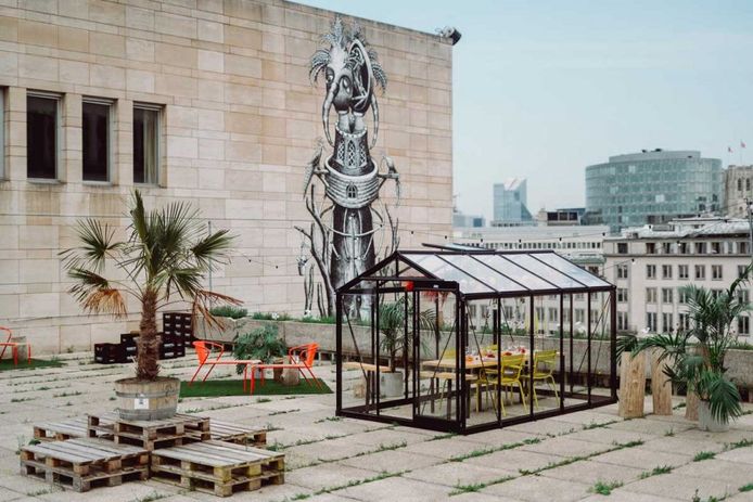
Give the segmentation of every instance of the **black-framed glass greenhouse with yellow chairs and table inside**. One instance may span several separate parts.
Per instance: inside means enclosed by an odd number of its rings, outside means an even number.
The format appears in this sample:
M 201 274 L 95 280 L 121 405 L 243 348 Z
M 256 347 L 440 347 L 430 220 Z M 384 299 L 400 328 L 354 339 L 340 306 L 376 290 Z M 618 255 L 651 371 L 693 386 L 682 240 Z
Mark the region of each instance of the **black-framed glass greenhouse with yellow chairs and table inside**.
M 337 414 L 470 434 L 613 403 L 615 310 L 553 252 L 396 252 L 337 289 Z

